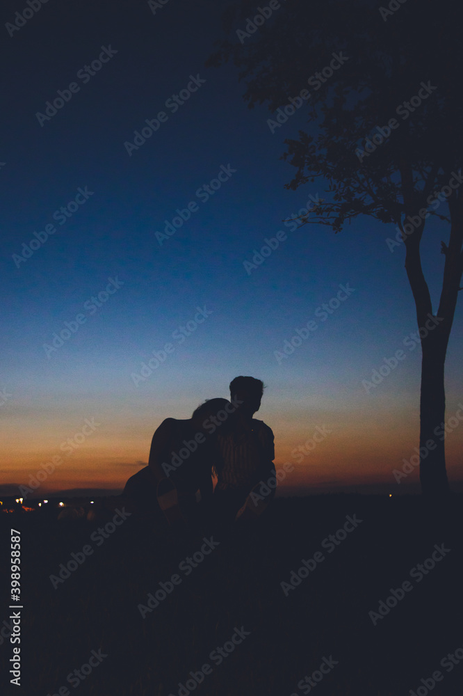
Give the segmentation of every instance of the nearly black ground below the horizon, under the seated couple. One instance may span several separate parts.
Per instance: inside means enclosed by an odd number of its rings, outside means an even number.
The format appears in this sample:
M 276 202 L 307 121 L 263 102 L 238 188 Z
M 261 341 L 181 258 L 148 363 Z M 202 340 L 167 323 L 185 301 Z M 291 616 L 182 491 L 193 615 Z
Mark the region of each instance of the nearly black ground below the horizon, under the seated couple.
M 346 516 L 359 520 L 357 527 L 330 545 L 327 537 Z M 77 696 L 463 693 L 462 496 L 444 513 L 419 497 L 277 499 L 257 523 L 228 537 L 209 529 L 182 537 L 132 515 L 104 539 L 97 529 L 112 519 L 109 512 L 103 521 L 59 523 L 56 515 L 1 515 L 2 555 L 17 525 L 24 571 L 22 686 L 3 677 L 2 693 L 51 696 L 66 694 L 65 687 Z M 211 533 L 218 546 L 192 567 L 187 557 Z M 444 557 L 428 561 L 423 574 L 416 567 L 432 557 L 434 544 L 444 545 Z M 50 576 L 58 577 L 60 564 L 83 546 L 93 553 L 55 589 Z M 316 552 L 323 560 L 285 596 L 280 583 L 295 578 L 292 571 Z M 164 585 L 171 591 L 165 599 L 158 592 L 159 606 L 148 611 L 148 594 L 172 575 L 178 584 Z M 373 624 L 368 612 L 378 612 L 406 580 L 412 589 Z M 1 599 L 0 622 L 8 619 L 8 587 Z M 3 640 L 2 657 L 9 659 L 12 648 Z M 89 667 L 79 670 L 92 651 L 99 659 L 85 676 Z M 314 672 L 310 686 L 304 679 Z

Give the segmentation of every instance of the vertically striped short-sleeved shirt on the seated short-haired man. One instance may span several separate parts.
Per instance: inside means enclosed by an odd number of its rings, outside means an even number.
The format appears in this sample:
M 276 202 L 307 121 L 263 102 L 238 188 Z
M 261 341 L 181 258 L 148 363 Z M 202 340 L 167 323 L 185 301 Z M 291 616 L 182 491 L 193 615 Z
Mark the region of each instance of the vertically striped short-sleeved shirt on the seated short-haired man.
M 217 488 L 254 487 L 262 475 L 270 472 L 275 459 L 272 429 L 263 420 L 252 418 L 252 430 L 218 434 L 220 463 L 216 466 Z

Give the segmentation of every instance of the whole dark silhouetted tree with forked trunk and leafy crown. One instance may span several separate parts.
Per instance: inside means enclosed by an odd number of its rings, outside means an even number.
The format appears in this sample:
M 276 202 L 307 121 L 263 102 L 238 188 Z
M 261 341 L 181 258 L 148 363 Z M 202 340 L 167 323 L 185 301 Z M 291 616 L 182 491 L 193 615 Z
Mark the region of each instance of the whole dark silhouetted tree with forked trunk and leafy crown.
M 297 168 L 288 189 L 325 180 L 329 198 L 309 223 L 339 232 L 346 220 L 370 215 L 396 226 L 387 244 L 405 249 L 422 334 L 421 487 L 445 496 L 444 440 L 434 430 L 445 420 L 444 363 L 463 270 L 458 6 L 446 0 L 272 4 L 271 16 L 268 6 L 260 11 L 249 0 L 228 8 L 224 31 L 232 40 L 218 41 L 206 65 L 234 61 L 246 84 L 243 98 L 249 108 L 268 105 L 273 132 L 290 118 L 291 108 L 284 109 L 290 103 L 308 112 L 307 132 L 285 140 L 282 159 Z M 254 22 L 257 15 L 263 19 Z M 449 223 L 447 241 L 435 240 L 436 253 L 440 246 L 445 254 L 435 315 L 420 258 L 430 215 Z

